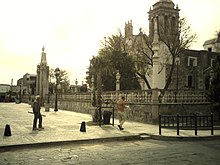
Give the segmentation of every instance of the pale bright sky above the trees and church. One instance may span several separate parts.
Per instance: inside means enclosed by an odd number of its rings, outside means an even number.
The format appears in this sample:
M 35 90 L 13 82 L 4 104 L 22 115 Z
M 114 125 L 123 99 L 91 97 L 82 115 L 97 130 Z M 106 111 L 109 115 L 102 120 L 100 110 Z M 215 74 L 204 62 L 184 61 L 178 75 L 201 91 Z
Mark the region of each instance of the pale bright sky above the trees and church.
M 158 0 L 0 0 L 0 84 L 13 85 L 24 74 L 36 74 L 42 47 L 50 68 L 69 74 L 70 84 L 85 82 L 89 60 L 104 37 L 124 34 L 132 20 L 133 34 L 148 33 L 148 11 Z M 197 42 L 220 30 L 220 0 L 173 0 L 186 17 Z

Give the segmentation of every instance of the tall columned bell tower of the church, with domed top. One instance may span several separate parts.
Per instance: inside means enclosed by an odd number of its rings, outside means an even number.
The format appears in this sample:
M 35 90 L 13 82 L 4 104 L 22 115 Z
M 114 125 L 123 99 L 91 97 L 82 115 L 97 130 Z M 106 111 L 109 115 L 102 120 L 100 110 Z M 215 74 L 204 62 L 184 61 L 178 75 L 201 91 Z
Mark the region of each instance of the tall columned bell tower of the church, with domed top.
M 172 0 L 159 0 L 150 8 L 149 14 L 149 39 L 153 42 L 155 21 L 159 40 L 169 35 L 176 35 L 178 32 L 179 8 L 174 5 Z

